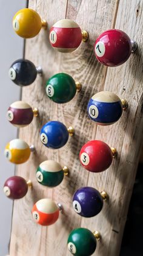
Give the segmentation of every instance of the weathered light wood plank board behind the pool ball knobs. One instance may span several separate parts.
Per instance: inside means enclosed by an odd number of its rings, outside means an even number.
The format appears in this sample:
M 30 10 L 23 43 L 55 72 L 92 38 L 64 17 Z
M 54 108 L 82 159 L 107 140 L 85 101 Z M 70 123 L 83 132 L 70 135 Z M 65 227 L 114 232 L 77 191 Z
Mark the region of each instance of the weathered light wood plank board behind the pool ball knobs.
M 82 43 L 71 54 L 61 54 L 52 49 L 48 32 L 44 30 L 36 38 L 26 41 L 25 57 L 42 66 L 44 77 L 39 77 L 33 85 L 22 90 L 22 99 L 38 107 L 39 117 L 19 133 L 27 143 L 35 144 L 36 153 L 16 171 L 16 174 L 32 180 L 33 190 L 29 190 L 24 199 L 14 202 L 10 256 L 70 255 L 67 238 L 76 227 L 101 232 L 102 240 L 95 256 L 119 255 L 142 144 L 142 5 L 143 2 L 138 0 L 29 1 L 29 7 L 48 21 L 48 28 L 62 18 L 71 18 L 82 29 L 88 30 L 90 38 L 88 43 Z M 96 37 L 111 27 L 124 30 L 138 41 L 138 51 L 124 65 L 116 68 L 102 66 L 93 53 Z M 64 105 L 50 101 L 44 90 L 45 80 L 61 71 L 82 83 L 81 93 Z M 101 90 L 113 91 L 128 100 L 128 110 L 113 126 L 97 127 L 88 119 L 88 99 Z M 39 130 L 49 119 L 75 127 L 75 137 L 56 151 L 45 148 L 39 138 Z M 95 138 L 118 149 L 118 158 L 101 174 L 89 173 L 79 163 L 81 146 Z M 47 158 L 57 160 L 70 169 L 70 176 L 54 189 L 43 187 L 36 181 L 36 168 Z M 73 193 L 86 185 L 105 190 L 110 196 L 102 212 L 90 219 L 81 218 L 72 208 Z M 38 226 L 32 220 L 33 204 L 42 197 L 52 197 L 64 207 L 64 213 L 50 227 Z

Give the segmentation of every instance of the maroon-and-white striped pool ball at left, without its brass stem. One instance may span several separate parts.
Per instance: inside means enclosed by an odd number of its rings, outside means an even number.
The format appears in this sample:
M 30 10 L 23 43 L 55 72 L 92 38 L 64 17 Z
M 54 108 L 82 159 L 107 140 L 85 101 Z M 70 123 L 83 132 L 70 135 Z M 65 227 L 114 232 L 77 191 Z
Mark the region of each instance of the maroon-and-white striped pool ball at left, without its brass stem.
M 24 101 L 16 101 L 7 110 L 8 121 L 18 128 L 28 126 L 33 120 L 33 110 Z

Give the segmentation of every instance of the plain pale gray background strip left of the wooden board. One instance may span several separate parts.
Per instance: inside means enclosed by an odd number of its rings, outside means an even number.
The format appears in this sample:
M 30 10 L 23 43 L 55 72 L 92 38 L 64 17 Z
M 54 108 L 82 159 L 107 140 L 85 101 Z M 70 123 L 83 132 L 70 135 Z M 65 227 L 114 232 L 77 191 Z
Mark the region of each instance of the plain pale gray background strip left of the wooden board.
M 17 136 L 17 129 L 7 121 L 5 114 L 9 105 L 18 101 L 21 95 L 20 88 L 10 81 L 8 69 L 16 59 L 22 57 L 24 43 L 24 40 L 13 31 L 12 18 L 19 9 L 25 7 L 25 2 L 25 0 L 0 0 L 0 256 L 8 254 L 13 205 L 13 202 L 4 195 L 3 185 L 15 172 L 15 165 L 7 162 L 3 152 L 5 144 Z

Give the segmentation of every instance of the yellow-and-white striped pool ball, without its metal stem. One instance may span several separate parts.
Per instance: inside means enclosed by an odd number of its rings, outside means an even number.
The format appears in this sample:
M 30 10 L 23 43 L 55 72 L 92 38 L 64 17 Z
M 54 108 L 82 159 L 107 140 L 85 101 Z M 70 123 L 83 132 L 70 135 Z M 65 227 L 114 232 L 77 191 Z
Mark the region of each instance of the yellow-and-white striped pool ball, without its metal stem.
M 5 147 L 4 155 L 12 163 L 25 163 L 30 157 L 30 148 L 23 140 L 11 140 Z

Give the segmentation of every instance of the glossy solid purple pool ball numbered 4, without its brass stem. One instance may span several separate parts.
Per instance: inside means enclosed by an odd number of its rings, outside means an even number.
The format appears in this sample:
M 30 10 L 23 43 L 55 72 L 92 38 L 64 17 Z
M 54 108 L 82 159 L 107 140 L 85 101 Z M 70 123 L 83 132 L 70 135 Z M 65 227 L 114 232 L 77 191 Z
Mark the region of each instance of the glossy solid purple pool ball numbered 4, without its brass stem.
M 83 217 L 90 218 L 98 215 L 102 207 L 102 196 L 95 188 L 79 188 L 73 196 L 73 208 Z

